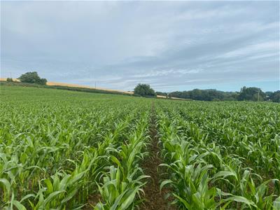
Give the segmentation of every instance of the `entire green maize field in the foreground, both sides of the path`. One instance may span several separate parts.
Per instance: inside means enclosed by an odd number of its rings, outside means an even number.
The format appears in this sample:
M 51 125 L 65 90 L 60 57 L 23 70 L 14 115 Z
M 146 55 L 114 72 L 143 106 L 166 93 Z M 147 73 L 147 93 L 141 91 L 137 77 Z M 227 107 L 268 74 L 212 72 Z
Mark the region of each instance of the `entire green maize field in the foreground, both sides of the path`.
M 0 108 L 0 209 L 280 209 L 279 104 L 3 85 Z

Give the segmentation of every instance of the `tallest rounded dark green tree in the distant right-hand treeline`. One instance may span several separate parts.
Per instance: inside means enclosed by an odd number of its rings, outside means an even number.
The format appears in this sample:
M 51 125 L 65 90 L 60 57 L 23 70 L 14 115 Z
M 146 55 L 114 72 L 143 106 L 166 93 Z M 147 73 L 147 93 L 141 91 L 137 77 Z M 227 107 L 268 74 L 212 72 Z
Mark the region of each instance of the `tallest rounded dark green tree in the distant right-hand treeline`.
M 242 87 L 238 96 L 239 101 L 263 101 L 265 92 L 262 92 L 258 87 Z

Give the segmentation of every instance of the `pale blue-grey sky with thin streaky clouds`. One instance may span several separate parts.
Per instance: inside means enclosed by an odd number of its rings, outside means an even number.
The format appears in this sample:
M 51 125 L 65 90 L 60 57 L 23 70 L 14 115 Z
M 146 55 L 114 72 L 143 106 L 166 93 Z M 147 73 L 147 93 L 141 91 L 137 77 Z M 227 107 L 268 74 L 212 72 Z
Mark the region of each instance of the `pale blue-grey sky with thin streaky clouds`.
M 1 78 L 280 90 L 279 1 L 1 1 Z

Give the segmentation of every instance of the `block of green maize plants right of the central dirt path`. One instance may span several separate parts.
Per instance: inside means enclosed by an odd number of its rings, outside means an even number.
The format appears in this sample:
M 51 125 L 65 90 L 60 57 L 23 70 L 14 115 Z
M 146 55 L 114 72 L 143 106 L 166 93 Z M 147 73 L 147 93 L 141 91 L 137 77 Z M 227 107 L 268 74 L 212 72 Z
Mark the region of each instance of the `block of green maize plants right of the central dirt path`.
M 188 106 L 187 106 L 188 105 Z M 278 104 L 160 102 L 162 159 L 179 209 L 279 209 Z

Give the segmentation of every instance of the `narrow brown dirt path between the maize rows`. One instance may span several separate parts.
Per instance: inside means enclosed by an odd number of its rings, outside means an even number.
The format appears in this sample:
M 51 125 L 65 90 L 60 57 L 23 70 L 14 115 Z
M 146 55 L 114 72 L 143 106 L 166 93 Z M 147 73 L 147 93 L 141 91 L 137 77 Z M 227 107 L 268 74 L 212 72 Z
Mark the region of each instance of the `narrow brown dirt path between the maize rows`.
M 158 167 L 162 160 L 160 159 L 160 148 L 158 146 L 158 131 L 156 127 L 155 118 L 155 105 L 152 104 L 151 108 L 151 128 L 150 137 L 151 145 L 148 147 L 149 156 L 144 161 L 141 166 L 144 169 L 144 174 L 151 176 L 148 179 L 148 183 L 144 188 L 145 192 L 145 202 L 142 204 L 140 209 L 147 210 L 173 210 L 176 209 L 174 206 L 169 205 L 169 201 L 165 200 L 165 195 L 169 193 L 167 188 L 163 188 L 160 192 L 160 179 L 162 179 L 162 168 Z

